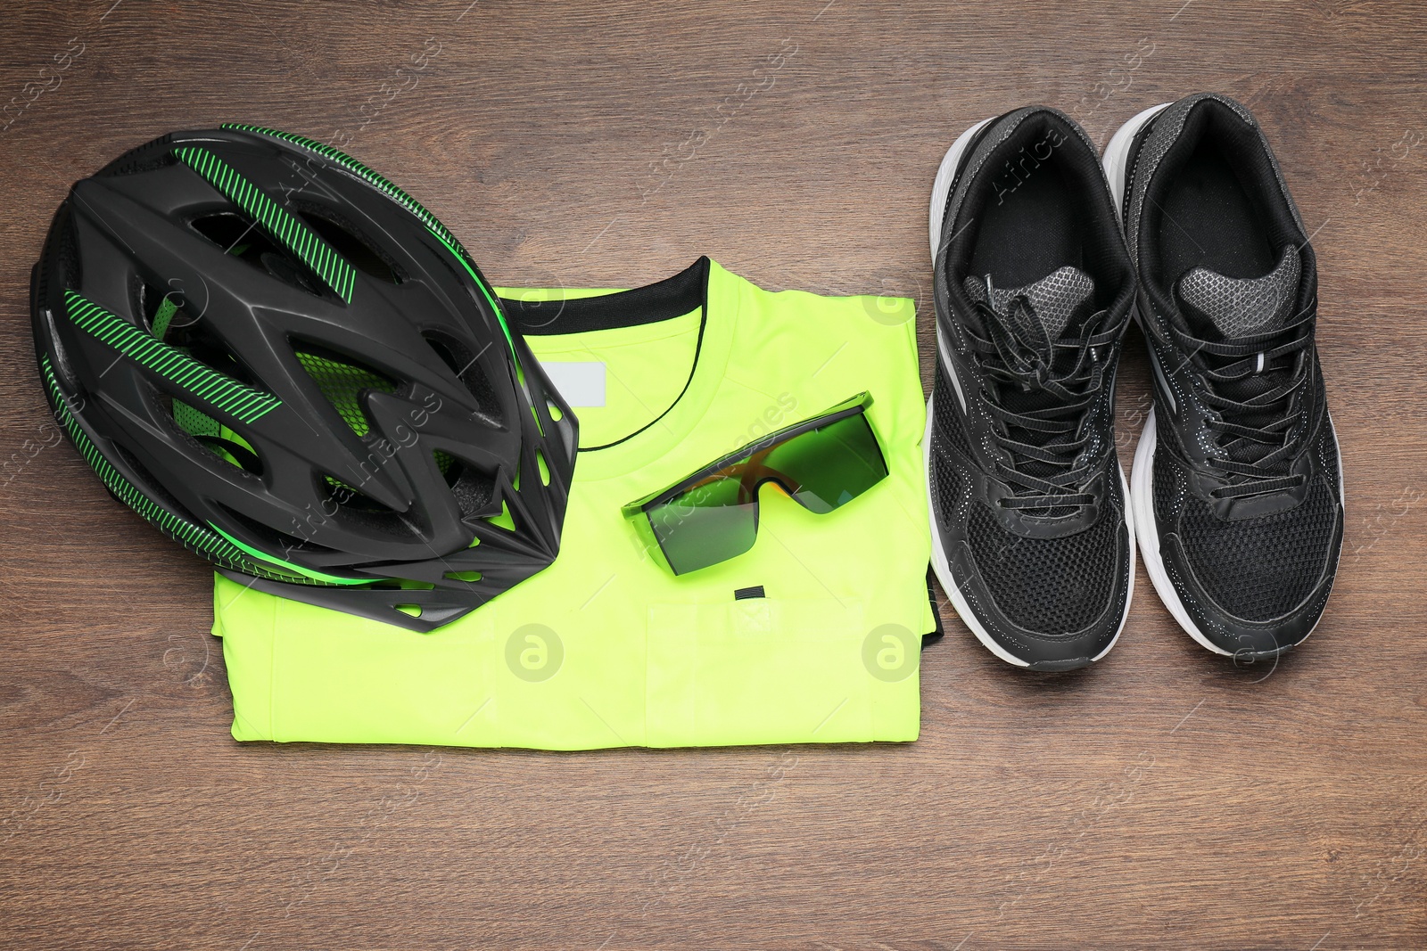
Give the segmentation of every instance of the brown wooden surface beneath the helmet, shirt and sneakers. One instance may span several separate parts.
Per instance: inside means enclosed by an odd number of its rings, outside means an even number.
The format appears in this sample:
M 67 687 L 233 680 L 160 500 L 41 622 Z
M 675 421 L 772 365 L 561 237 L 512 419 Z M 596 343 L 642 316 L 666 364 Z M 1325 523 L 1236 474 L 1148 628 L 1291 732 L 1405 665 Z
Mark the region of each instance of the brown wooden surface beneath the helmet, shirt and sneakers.
M 0 945 L 1427 947 L 1423 4 L 468 3 L 4 3 Z M 204 565 L 49 445 L 30 264 L 71 181 L 173 128 L 345 141 L 497 282 L 709 254 L 929 308 L 962 130 L 1046 103 L 1103 144 L 1206 88 L 1317 230 L 1349 520 L 1276 666 L 1194 646 L 1142 569 L 1083 673 L 1017 673 L 948 610 L 910 746 L 240 746 Z M 1127 461 L 1134 331 L 1119 398 Z

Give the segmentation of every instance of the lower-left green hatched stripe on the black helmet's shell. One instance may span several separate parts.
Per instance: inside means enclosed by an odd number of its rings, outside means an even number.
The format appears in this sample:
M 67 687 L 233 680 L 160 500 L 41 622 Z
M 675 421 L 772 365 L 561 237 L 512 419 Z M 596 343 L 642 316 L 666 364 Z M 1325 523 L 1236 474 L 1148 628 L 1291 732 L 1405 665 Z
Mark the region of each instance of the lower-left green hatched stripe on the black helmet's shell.
M 73 289 L 66 288 L 64 302 L 77 328 L 240 422 L 255 422 L 283 405 L 277 396 L 210 369 Z

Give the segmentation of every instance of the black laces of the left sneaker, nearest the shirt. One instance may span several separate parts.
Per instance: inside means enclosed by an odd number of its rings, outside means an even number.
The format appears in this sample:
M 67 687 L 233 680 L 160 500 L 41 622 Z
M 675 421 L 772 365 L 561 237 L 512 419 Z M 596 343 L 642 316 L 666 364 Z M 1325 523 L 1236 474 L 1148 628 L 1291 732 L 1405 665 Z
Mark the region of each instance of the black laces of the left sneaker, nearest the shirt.
M 1012 461 L 1006 465 L 997 459 L 996 475 L 1016 486 L 1015 495 L 1002 499 L 1000 505 L 1047 510 L 1092 505 L 1095 496 L 1080 492 L 1079 486 L 1093 466 L 1089 461 L 1077 466 L 1076 456 L 1090 439 L 1089 432 L 1082 432 L 1086 409 L 1100 392 L 1109 369 L 1099 348 L 1110 346 L 1120 338 L 1127 314 L 1109 324 L 1109 311 L 1099 311 L 1085 321 L 1079 336 L 1053 341 L 1025 294 L 1010 298 L 1005 312 L 990 304 L 993 299 L 987 275 L 986 299 L 975 304 L 990 339 L 975 331 L 968 332 L 972 349 L 990 358 L 982 359 L 982 368 L 1007 385 L 1039 389 L 1056 398 L 1045 408 L 1016 412 L 1003 406 L 997 394 L 982 389 L 986 409 L 1002 422 L 1000 445 Z M 1075 364 L 1057 372 L 1056 356 L 1069 352 L 1075 352 Z M 1025 431 L 1029 436 L 1016 438 L 1012 429 Z M 1030 442 L 1029 438 L 1035 436 L 1040 438 Z M 1025 465 L 1032 461 L 1045 463 L 1050 472 L 1026 472 Z

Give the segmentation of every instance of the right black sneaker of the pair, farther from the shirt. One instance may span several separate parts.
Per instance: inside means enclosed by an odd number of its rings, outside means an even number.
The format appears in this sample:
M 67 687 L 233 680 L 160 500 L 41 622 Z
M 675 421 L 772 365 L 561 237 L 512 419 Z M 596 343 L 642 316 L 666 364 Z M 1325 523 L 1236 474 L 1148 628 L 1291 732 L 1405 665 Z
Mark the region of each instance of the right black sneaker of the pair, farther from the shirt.
M 1313 247 L 1263 131 L 1226 96 L 1140 113 L 1104 167 L 1154 369 L 1134 452 L 1144 566 L 1200 644 L 1276 656 L 1313 632 L 1343 545 Z

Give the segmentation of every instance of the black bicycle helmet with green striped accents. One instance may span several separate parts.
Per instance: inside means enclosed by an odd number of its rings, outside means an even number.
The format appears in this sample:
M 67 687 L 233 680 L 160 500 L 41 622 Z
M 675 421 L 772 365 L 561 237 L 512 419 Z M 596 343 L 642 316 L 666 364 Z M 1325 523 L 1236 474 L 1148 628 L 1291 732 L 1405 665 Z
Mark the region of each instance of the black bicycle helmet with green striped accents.
M 74 445 L 225 575 L 431 630 L 555 559 L 574 413 L 455 237 L 331 147 L 121 155 L 56 212 L 30 311 Z

